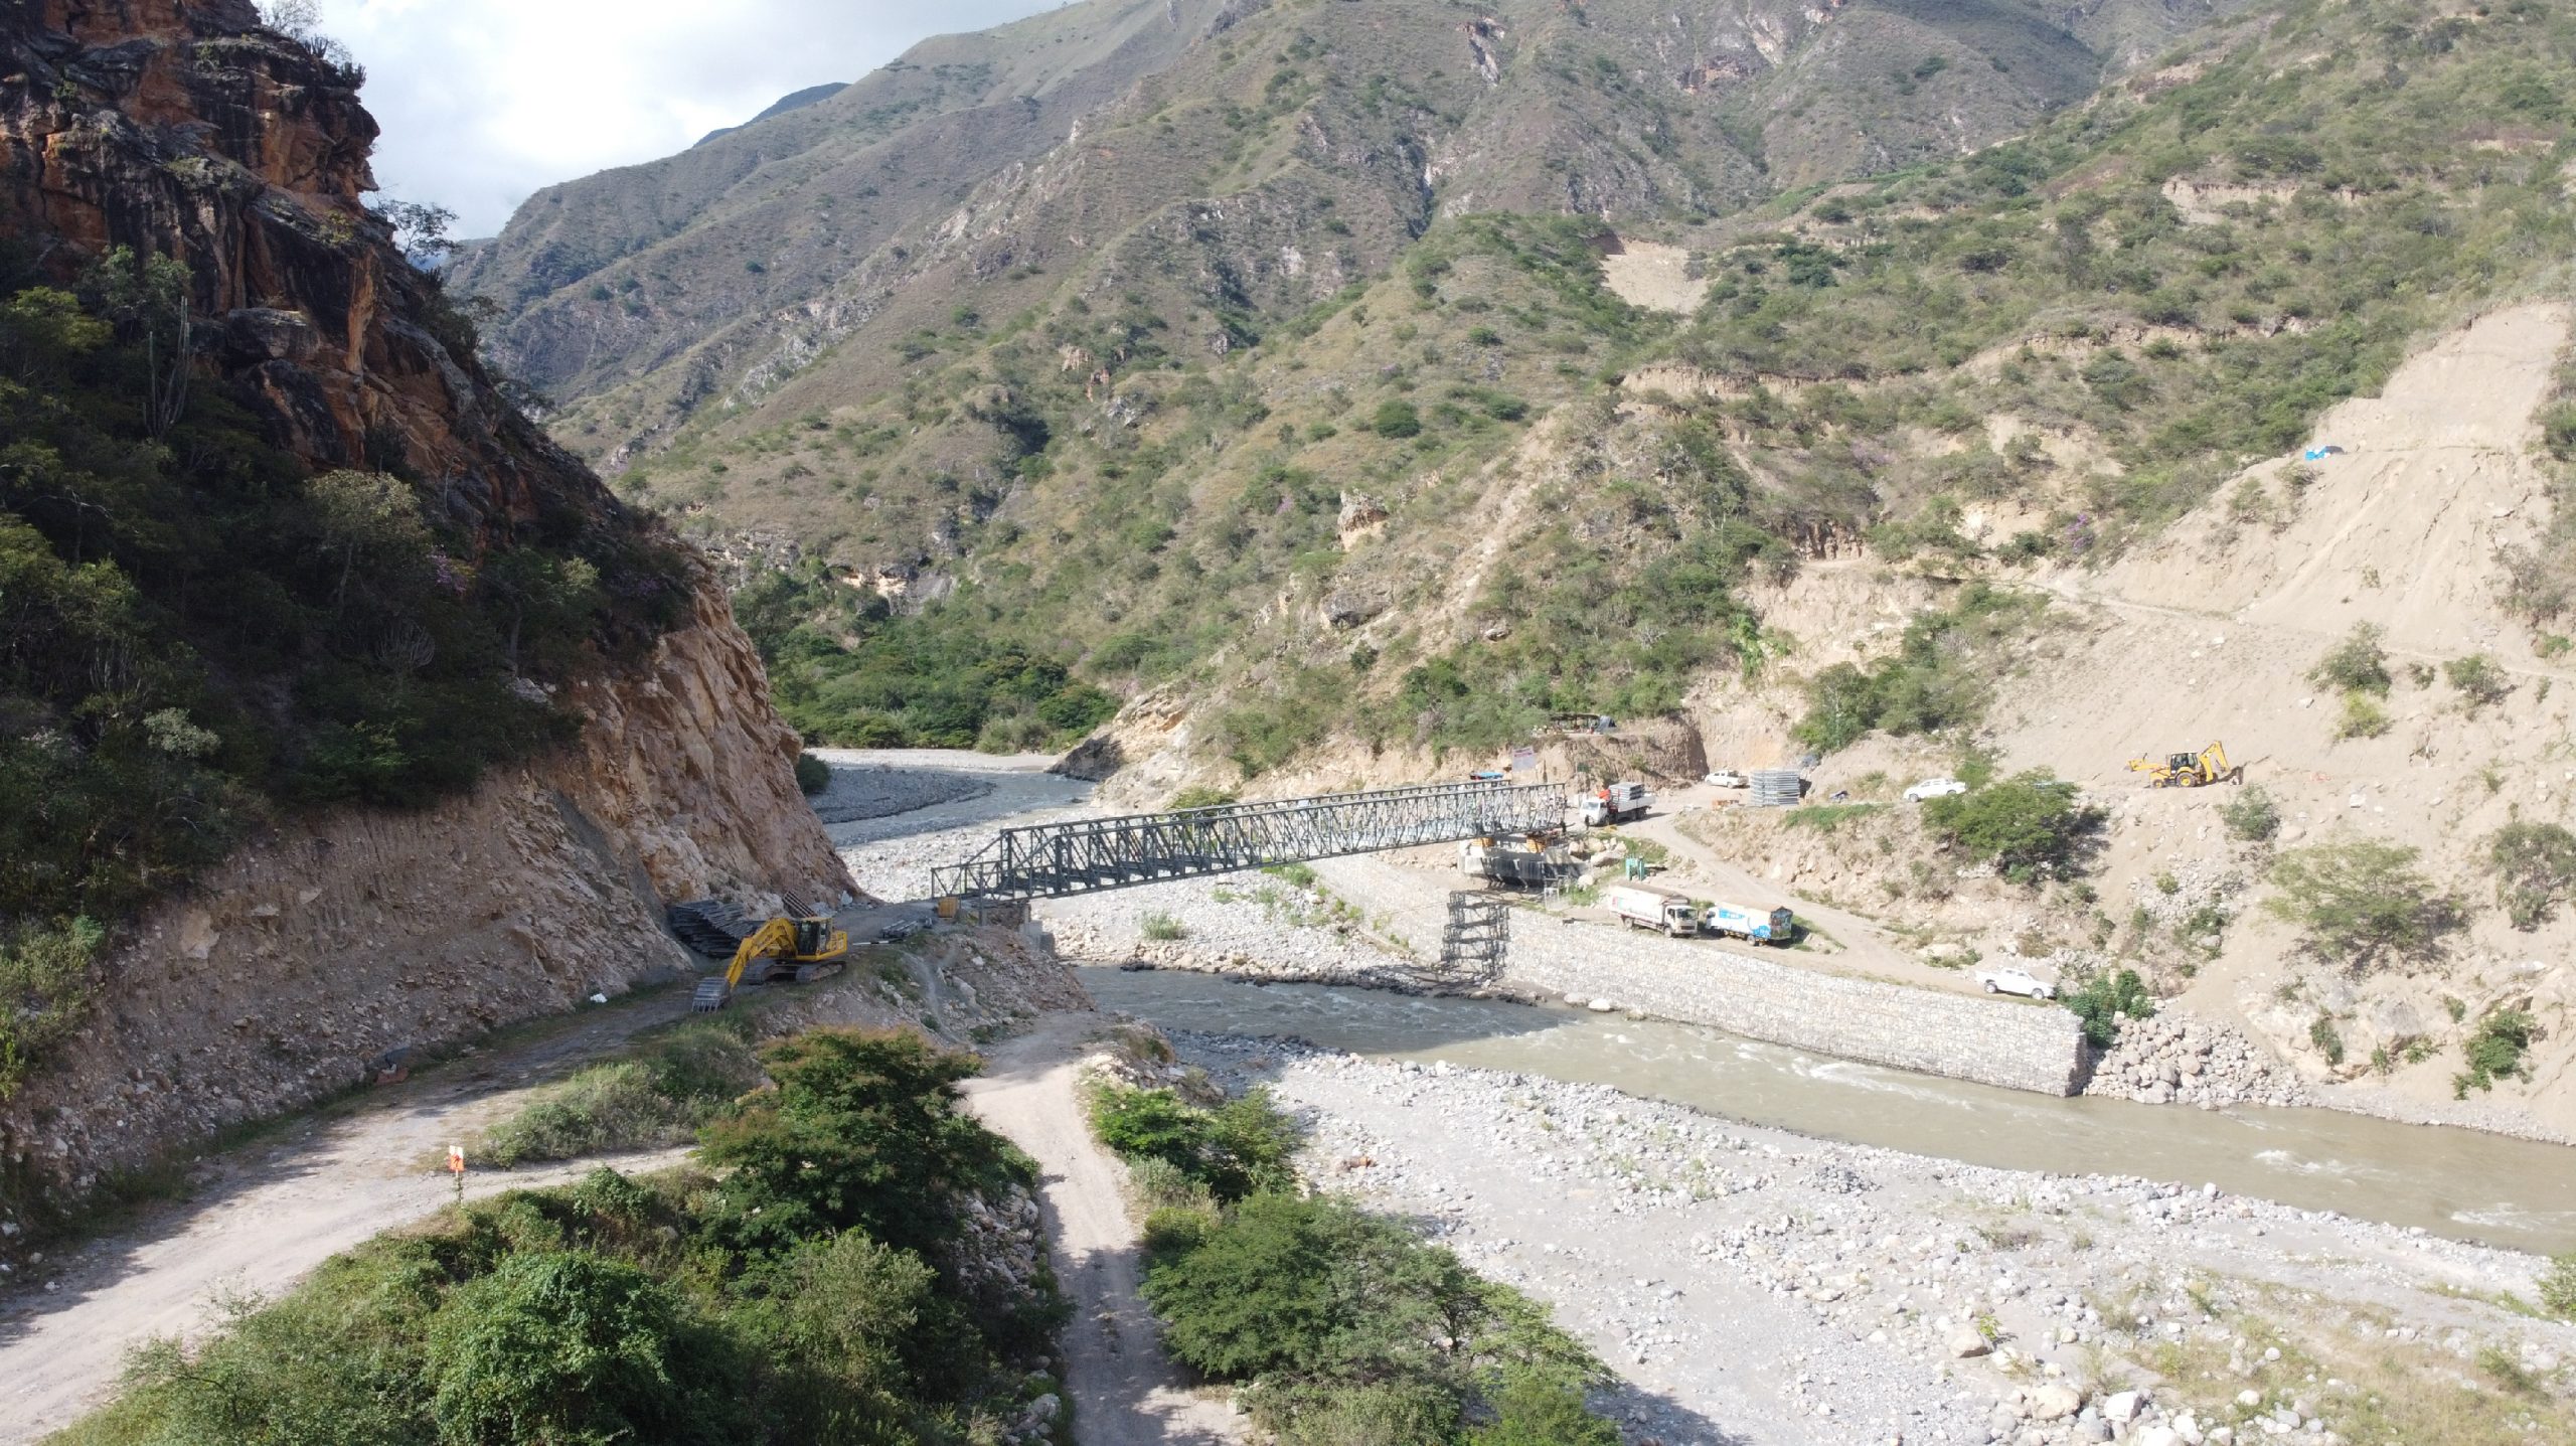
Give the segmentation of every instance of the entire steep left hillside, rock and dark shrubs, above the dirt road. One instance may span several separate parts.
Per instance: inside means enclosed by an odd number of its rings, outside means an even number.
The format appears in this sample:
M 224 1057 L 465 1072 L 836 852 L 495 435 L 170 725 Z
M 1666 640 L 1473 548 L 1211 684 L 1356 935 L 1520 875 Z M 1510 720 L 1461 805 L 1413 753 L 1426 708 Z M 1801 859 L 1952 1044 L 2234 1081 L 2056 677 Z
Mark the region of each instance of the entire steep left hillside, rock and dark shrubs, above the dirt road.
M 0 1209 L 837 894 L 706 562 L 492 387 L 335 54 L 0 21 Z

